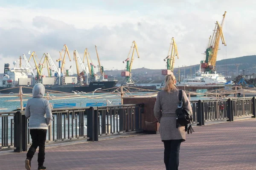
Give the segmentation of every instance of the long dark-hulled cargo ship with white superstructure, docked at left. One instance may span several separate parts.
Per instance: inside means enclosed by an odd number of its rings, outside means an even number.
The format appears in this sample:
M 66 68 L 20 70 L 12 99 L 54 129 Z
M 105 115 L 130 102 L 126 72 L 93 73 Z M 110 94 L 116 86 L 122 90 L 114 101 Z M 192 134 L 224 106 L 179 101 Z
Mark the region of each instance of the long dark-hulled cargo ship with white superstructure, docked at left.
M 16 64 L 15 62 L 13 63 Z M 23 94 L 32 94 L 32 88 L 35 85 L 35 77 L 29 78 L 29 68 L 10 68 L 10 64 L 4 64 L 3 78 L 0 79 L 0 93 L 19 93 L 19 88 L 15 87 L 29 87 L 22 88 Z M 60 91 L 65 93 L 77 93 L 78 91 L 87 93 L 96 90 L 104 90 L 116 86 L 117 81 L 91 81 L 88 84 L 81 84 L 77 82 L 77 77 L 62 77 L 62 85 L 56 84 L 57 77 L 42 77 L 41 83 L 44 84 L 47 91 Z M 79 93 L 78 92 L 78 93 Z

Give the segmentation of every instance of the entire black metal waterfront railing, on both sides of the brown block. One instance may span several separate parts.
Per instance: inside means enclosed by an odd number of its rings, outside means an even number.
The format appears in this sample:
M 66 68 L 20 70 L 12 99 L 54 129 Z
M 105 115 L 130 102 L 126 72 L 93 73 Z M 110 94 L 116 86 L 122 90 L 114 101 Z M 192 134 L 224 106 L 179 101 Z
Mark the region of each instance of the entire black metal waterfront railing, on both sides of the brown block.
M 233 121 L 241 116 L 256 117 L 255 97 L 191 101 L 193 123 L 204 125 L 216 120 Z M 142 132 L 144 105 L 116 105 L 90 108 L 52 109 L 53 121 L 47 143 L 99 138 Z M 145 117 L 145 116 L 144 116 Z M 26 151 L 31 144 L 24 111 L 0 113 L 0 151 Z

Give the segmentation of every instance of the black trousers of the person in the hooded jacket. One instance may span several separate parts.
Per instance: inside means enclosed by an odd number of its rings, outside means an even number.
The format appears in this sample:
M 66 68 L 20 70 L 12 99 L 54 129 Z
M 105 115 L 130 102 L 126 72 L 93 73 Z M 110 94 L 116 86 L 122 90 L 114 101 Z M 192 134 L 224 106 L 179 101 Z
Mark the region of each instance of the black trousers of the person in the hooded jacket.
M 39 146 L 38 166 L 40 167 L 44 165 L 44 155 L 45 155 L 44 149 L 45 149 L 46 133 L 47 133 L 46 129 L 30 129 L 32 145 L 30 146 L 26 156 L 31 161 L 37 147 Z

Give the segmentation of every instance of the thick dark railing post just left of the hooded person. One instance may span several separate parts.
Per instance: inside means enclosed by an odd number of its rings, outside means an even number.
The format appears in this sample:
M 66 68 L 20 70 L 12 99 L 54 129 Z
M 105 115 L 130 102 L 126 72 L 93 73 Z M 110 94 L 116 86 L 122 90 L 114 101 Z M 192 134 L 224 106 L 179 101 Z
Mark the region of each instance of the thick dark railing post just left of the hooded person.
M 21 113 L 17 111 L 14 115 L 14 152 L 22 152 L 21 143 Z

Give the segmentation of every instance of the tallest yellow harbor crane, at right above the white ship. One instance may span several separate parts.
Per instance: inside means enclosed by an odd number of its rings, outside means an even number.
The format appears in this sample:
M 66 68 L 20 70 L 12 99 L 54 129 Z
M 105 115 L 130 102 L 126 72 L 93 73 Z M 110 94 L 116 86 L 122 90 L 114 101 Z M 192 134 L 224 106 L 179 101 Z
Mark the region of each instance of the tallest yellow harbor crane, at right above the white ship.
M 201 61 L 201 70 L 204 71 L 204 73 L 206 72 L 214 73 L 216 71 L 215 66 L 216 66 L 217 54 L 219 50 L 218 46 L 219 46 L 220 39 L 222 44 L 226 46 L 226 42 L 222 32 L 226 13 L 227 11 L 225 11 L 224 14 L 222 15 L 223 18 L 222 18 L 221 24 L 219 24 L 218 21 L 216 21 L 213 34 L 212 36 L 209 37 L 209 43 L 205 51 L 206 58 L 205 60 Z

